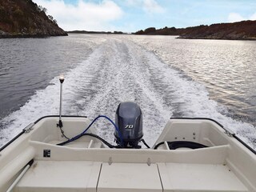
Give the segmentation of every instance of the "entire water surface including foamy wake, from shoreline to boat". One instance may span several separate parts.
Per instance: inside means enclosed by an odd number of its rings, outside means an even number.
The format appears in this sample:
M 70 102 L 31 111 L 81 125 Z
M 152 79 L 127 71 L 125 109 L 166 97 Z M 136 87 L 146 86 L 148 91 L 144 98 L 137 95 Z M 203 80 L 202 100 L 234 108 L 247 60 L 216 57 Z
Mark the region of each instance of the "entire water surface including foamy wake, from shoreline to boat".
M 214 118 L 256 146 L 256 42 L 162 36 L 75 35 L 0 39 L 0 146 L 42 115 L 142 107 L 150 145 L 170 117 Z M 98 134 L 113 141 L 104 122 Z M 154 135 L 154 137 L 152 137 Z

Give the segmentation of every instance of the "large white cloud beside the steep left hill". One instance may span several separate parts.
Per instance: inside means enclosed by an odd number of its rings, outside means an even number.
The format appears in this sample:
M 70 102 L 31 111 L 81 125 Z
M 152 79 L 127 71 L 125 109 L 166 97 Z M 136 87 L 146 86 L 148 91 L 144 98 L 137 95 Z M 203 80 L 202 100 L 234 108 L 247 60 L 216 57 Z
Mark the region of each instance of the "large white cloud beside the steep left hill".
M 34 0 L 46 7 L 47 14 L 57 20 L 63 30 L 114 30 L 110 22 L 122 18 L 122 9 L 113 1 L 100 3 L 79 0 L 77 5 L 66 4 L 63 0 Z

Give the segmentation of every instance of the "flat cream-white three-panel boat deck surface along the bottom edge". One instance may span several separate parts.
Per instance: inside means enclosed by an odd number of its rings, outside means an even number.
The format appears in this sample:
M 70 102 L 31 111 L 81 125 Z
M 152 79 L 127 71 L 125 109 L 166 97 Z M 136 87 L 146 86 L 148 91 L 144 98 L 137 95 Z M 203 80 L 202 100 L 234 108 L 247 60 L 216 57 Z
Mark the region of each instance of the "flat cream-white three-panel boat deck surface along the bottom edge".
M 72 167 L 72 169 L 70 169 Z M 225 179 L 223 179 L 225 178 Z M 37 161 L 15 192 L 239 191 L 246 186 L 225 165 Z

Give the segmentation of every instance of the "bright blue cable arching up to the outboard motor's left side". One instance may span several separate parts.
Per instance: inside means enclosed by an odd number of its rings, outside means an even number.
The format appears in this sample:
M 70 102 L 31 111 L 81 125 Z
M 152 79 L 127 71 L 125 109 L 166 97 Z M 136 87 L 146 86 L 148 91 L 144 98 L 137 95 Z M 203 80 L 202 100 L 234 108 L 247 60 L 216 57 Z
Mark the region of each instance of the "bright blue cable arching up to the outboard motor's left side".
M 118 129 L 118 126 L 108 117 L 106 117 L 106 115 L 98 115 L 97 118 L 94 118 L 94 121 L 92 121 L 90 123 L 90 125 L 86 128 L 86 130 L 82 131 L 81 134 L 78 134 L 77 136 L 74 136 L 74 138 L 70 138 L 69 140 L 67 140 L 66 142 L 62 142 L 62 143 L 59 143 L 58 145 L 65 145 L 66 143 L 69 143 L 69 142 L 74 142 L 75 140 L 77 140 L 78 138 L 81 138 L 83 134 L 86 133 L 87 130 L 90 129 L 90 126 L 92 126 L 94 124 L 94 122 L 96 122 L 98 120 L 98 118 L 106 118 L 107 120 L 109 120 L 112 125 L 114 126 L 115 130 L 118 132 L 118 136 L 120 138 L 120 141 L 121 141 L 121 146 L 124 146 L 124 142 L 123 142 L 123 139 L 122 139 L 122 134 L 120 132 L 120 130 Z

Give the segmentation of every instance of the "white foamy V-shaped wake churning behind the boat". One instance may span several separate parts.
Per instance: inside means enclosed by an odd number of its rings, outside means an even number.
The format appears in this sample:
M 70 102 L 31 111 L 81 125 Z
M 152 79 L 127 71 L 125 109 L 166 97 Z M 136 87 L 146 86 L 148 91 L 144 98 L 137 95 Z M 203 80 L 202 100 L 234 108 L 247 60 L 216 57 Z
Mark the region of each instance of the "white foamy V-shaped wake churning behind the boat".
M 255 148 L 251 142 L 256 135 L 253 126 L 226 117 L 225 108 L 209 99 L 204 86 L 184 78 L 152 52 L 125 38 L 108 38 L 65 77 L 63 114 L 86 115 L 91 120 L 105 114 L 114 120 L 118 104 L 133 101 L 142 108 L 144 139 L 150 146 L 167 120 L 180 113 L 183 117 L 213 118 Z M 58 77 L 51 83 L 3 119 L 9 126 L 1 144 L 37 118 L 58 114 Z M 94 127 L 100 136 L 113 142 L 110 123 L 100 120 Z

